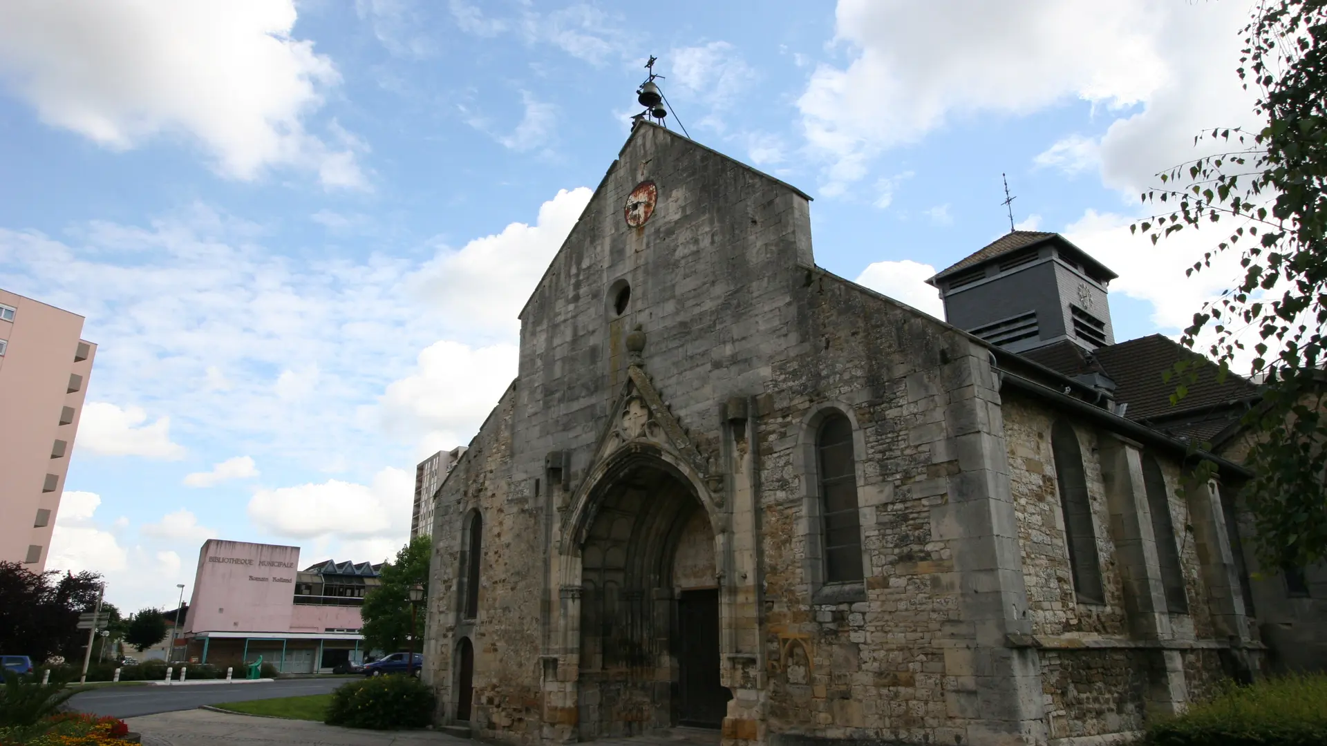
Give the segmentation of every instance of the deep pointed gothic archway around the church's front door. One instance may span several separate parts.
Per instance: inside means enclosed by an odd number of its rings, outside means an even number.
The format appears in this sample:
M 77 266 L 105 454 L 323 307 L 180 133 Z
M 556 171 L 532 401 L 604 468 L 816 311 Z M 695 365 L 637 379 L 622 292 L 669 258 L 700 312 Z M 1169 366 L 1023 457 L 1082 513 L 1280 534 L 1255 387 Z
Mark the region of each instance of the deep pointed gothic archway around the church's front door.
M 580 737 L 718 727 L 715 532 L 695 488 L 660 459 L 614 470 L 583 531 Z

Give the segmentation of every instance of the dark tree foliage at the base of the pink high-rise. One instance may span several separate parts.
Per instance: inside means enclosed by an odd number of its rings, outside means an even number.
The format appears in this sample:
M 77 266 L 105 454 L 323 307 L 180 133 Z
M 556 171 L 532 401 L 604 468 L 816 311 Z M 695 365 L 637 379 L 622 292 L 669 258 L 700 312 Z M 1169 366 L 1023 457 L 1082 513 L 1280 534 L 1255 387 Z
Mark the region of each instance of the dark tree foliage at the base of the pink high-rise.
M 93 611 L 100 592 L 94 572 L 37 575 L 0 561 L 0 650 L 33 662 L 56 654 L 81 658 L 88 632 L 78 629 L 78 615 Z

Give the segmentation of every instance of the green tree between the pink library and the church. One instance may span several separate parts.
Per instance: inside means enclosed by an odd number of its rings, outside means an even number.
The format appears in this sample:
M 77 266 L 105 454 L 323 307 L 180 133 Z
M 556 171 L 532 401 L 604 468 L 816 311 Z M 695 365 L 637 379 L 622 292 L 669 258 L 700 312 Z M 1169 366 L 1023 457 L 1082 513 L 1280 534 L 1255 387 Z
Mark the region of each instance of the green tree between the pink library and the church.
M 415 536 L 401 547 L 397 559 L 384 564 L 382 584 L 364 596 L 364 644 L 366 648 L 385 652 L 403 650 L 410 646 L 410 587 L 419 583 L 429 596 L 429 556 L 433 542 L 427 536 Z M 415 634 L 423 636 L 425 604 L 419 604 L 415 620 Z M 415 642 L 415 652 L 421 649 Z

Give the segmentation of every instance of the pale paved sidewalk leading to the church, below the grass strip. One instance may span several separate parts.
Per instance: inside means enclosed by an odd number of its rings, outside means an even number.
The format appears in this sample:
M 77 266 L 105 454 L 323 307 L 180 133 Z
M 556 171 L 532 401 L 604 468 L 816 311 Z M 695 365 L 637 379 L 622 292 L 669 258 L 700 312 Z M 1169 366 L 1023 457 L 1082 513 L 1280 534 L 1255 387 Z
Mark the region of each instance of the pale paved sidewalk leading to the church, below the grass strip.
M 433 730 L 358 730 L 303 719 L 179 710 L 129 718 L 143 746 L 475 746 Z

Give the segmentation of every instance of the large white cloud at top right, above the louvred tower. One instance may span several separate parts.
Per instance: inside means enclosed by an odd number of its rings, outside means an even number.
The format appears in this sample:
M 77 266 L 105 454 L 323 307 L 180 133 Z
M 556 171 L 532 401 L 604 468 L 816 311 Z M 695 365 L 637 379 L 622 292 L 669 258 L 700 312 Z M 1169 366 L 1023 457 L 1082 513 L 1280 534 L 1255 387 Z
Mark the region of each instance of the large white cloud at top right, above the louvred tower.
M 1127 112 L 1100 142 L 1103 177 L 1133 190 L 1192 154 L 1202 127 L 1249 119 L 1234 74 L 1247 3 L 1082 4 L 840 0 L 847 66 L 821 64 L 798 101 L 827 194 L 881 151 L 946 122 L 1026 115 L 1068 100 Z M 1141 106 L 1141 109 L 1137 109 Z M 1062 141 L 1047 158 L 1087 157 Z M 1076 163 L 1076 162 L 1075 162 Z

